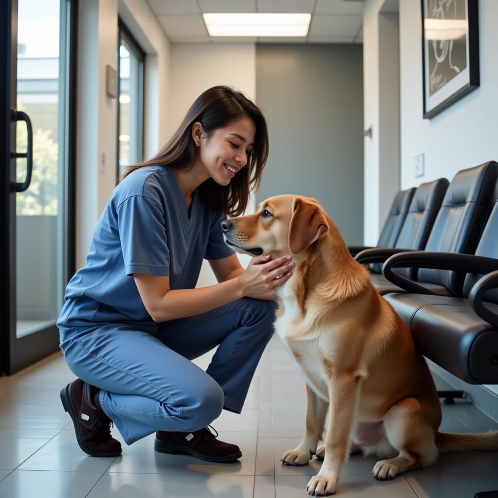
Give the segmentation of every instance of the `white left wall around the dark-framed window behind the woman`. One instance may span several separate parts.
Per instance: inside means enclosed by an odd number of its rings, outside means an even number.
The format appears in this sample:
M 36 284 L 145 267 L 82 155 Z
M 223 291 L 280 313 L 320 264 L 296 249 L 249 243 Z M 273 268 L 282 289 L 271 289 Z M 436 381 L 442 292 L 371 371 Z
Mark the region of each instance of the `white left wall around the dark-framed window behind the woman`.
M 116 185 L 117 99 L 106 95 L 106 66 L 116 68 L 118 14 L 147 56 L 145 154 L 167 136 L 169 42 L 148 4 L 139 0 L 79 2 L 76 157 L 76 267 Z

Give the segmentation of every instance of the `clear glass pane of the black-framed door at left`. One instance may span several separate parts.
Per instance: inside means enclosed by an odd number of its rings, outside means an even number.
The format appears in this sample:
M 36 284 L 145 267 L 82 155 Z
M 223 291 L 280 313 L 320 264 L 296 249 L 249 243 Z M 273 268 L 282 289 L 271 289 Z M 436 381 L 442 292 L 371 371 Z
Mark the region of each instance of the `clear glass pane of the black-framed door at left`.
M 69 1 L 18 0 L 16 109 L 32 123 L 33 169 L 29 187 L 15 196 L 17 336 L 55 321 L 72 258 L 66 204 L 71 8 Z M 25 151 L 27 141 L 26 124 L 18 121 L 16 150 Z M 26 165 L 16 160 L 17 182 L 26 178 Z

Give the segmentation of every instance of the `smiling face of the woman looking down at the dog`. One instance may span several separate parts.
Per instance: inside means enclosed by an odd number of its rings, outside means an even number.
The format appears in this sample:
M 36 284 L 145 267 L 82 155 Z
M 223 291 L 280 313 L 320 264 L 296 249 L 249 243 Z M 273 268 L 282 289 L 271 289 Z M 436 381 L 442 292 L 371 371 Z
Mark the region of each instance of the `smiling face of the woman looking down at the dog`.
M 216 183 L 228 185 L 246 166 L 255 133 L 256 126 L 247 116 L 216 129 L 210 137 L 203 133 L 200 123 L 192 126 L 192 137 L 200 144 L 199 159 Z

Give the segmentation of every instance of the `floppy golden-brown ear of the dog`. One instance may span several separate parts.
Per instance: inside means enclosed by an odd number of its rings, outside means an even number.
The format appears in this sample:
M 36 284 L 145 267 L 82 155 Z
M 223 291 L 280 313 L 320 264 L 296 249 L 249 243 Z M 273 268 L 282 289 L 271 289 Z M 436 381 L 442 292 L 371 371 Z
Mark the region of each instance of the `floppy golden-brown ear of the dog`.
M 329 225 L 323 211 L 313 204 L 296 197 L 292 205 L 292 219 L 289 227 L 289 249 L 299 254 L 322 237 Z

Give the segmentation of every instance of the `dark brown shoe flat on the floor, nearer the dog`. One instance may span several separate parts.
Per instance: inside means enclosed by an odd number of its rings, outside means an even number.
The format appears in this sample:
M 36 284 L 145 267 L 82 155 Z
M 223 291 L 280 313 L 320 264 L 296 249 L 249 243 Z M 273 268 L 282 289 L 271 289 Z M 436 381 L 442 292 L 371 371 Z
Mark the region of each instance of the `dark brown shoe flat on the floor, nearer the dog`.
M 208 427 L 211 427 L 208 425 Z M 218 441 L 208 427 L 194 432 L 157 431 L 154 450 L 160 453 L 183 453 L 208 462 L 227 463 L 242 457 L 240 448 L 235 444 Z

